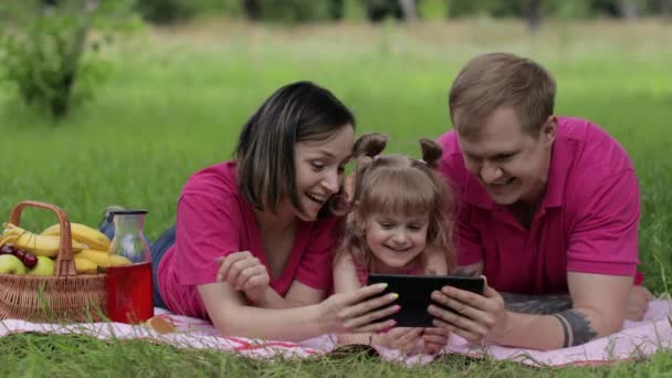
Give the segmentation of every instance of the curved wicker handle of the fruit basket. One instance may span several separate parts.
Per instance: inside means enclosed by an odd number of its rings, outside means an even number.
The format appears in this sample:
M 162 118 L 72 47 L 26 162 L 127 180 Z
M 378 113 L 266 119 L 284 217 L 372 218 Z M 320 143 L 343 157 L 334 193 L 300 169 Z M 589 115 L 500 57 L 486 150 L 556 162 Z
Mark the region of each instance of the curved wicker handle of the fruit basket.
M 21 211 L 25 208 L 51 210 L 59 217 L 59 223 L 61 224 L 61 246 L 59 248 L 59 254 L 56 256 L 56 270 L 54 275 L 76 275 L 77 271 L 75 270 L 75 262 L 73 260 L 70 220 L 67 219 L 65 211 L 52 203 L 30 200 L 21 201 L 14 204 L 14 208 L 9 216 L 10 223 L 19 225 L 19 222 L 21 221 Z

